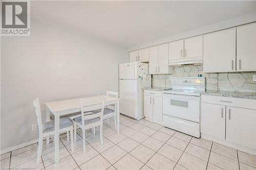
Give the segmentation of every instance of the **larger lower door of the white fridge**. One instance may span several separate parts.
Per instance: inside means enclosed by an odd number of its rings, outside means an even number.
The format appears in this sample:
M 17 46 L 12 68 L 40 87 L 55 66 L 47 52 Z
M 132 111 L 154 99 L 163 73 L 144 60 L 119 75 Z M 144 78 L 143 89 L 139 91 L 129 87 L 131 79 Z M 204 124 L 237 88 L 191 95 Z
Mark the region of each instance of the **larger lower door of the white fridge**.
M 120 113 L 138 118 L 138 80 L 119 80 Z

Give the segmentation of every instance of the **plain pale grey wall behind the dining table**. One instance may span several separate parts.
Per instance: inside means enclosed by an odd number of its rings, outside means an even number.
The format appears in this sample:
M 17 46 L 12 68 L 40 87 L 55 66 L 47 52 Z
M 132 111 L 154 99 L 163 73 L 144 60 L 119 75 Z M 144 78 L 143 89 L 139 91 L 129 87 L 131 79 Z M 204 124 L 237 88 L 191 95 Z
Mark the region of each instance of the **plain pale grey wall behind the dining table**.
M 31 21 L 30 36 L 1 37 L 1 150 L 38 138 L 32 101 L 118 91 L 127 49 Z

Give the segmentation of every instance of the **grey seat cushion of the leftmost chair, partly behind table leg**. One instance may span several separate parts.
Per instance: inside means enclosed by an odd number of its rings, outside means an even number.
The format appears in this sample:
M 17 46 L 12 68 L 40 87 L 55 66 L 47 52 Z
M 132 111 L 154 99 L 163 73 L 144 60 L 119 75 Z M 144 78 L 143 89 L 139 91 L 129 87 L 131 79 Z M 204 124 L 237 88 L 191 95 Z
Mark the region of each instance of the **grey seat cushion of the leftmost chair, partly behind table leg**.
M 67 128 L 73 126 L 74 123 L 69 117 L 63 117 L 59 119 L 59 129 Z M 42 132 L 51 132 L 55 130 L 55 123 L 54 121 L 46 122 L 42 124 Z

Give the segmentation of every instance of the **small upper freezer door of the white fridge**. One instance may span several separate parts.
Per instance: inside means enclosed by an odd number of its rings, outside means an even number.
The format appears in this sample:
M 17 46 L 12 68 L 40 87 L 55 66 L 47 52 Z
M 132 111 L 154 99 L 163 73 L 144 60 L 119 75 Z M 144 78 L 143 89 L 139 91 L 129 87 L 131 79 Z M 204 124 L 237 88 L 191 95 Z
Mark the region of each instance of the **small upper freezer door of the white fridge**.
M 137 79 L 138 62 L 119 64 L 119 79 Z

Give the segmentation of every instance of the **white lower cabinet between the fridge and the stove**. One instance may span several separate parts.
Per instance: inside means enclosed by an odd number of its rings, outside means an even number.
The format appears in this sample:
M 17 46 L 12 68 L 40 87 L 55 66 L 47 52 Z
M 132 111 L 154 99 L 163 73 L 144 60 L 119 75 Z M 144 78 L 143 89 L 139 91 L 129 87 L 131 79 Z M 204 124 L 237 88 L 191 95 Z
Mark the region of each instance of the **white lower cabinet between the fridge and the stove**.
M 144 115 L 147 120 L 162 124 L 162 91 L 144 90 Z

